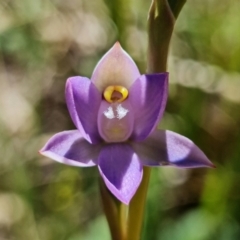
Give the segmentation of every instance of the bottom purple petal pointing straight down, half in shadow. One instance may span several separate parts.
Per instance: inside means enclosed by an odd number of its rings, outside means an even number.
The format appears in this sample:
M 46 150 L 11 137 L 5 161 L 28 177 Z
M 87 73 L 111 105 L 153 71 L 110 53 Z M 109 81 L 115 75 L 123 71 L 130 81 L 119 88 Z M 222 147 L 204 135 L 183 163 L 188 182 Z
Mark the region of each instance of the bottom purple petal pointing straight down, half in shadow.
M 142 180 L 142 165 L 127 144 L 106 145 L 98 159 L 99 171 L 112 194 L 129 204 Z

